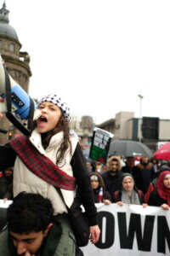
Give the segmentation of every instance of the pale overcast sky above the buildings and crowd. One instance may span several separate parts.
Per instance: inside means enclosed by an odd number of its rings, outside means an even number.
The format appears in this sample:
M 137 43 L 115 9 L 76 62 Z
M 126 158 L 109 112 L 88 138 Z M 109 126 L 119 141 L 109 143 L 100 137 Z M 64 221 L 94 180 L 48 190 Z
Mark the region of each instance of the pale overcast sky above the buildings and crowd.
M 6 0 L 31 56 L 30 96 L 59 94 L 96 123 L 120 111 L 170 119 L 170 1 Z M 3 0 L 0 0 L 1 6 Z

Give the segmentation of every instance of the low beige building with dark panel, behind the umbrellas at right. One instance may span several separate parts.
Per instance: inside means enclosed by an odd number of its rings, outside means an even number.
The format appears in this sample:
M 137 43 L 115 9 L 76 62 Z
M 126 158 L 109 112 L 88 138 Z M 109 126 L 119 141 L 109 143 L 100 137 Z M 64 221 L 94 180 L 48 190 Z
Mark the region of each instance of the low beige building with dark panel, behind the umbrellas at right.
M 145 118 L 145 117 L 144 117 Z M 99 128 L 105 131 L 111 131 L 114 134 L 113 140 L 134 140 L 141 141 L 142 143 L 149 146 L 151 149 L 156 150 L 156 143 L 170 141 L 170 120 L 169 119 L 158 119 L 157 127 L 148 125 L 146 133 L 149 132 L 149 137 L 143 137 L 142 128 L 144 118 L 134 118 L 133 112 L 119 112 L 116 113 L 115 119 L 106 120 L 104 123 L 97 125 Z M 149 121 L 152 118 L 148 117 Z M 150 123 L 152 124 L 152 123 Z M 110 129 L 108 129 L 110 128 Z M 154 131 L 156 129 L 156 132 Z M 157 139 L 152 138 L 152 134 L 157 133 Z

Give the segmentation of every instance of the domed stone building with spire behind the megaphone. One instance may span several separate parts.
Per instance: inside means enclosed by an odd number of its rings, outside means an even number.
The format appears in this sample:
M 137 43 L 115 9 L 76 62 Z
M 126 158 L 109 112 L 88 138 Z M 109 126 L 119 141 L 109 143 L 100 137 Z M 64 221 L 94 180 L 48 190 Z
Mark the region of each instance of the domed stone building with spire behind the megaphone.
M 8 13 L 4 1 L 3 8 L 0 9 L 0 54 L 10 76 L 28 92 L 31 77 L 30 56 L 27 52 L 20 51 L 22 45 L 14 27 L 8 24 Z M 9 130 L 10 127 L 12 127 L 12 124 L 9 123 L 8 119 L 3 118 L 0 121 L 0 129 Z M 13 131 L 13 135 L 16 132 Z M 7 141 L 8 134 L 5 135 L 0 132 L 0 143 L 6 143 Z

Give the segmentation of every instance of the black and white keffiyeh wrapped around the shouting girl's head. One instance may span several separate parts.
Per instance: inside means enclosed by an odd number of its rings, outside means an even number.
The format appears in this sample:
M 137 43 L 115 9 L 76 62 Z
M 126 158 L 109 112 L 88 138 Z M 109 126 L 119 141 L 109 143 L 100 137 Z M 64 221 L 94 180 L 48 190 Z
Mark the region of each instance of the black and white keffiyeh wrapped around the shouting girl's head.
M 70 108 L 68 108 L 65 102 L 62 102 L 59 96 L 57 96 L 56 94 L 49 94 L 48 96 L 44 96 L 42 97 L 41 101 L 38 103 L 38 106 L 42 102 L 52 102 L 55 105 L 57 105 L 59 108 L 61 108 L 62 112 L 64 113 L 65 119 L 67 119 L 67 121 L 70 122 L 71 120 Z

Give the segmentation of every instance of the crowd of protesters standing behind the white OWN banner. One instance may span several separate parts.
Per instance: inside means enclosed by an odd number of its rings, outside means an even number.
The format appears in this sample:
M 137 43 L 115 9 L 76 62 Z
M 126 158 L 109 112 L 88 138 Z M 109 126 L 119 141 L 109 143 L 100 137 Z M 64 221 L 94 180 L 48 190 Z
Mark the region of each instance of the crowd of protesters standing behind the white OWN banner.
M 170 207 L 170 161 L 111 155 L 105 165 L 86 158 L 94 201 Z M 101 189 L 102 188 L 102 189 Z M 102 197 L 103 196 L 103 197 Z

